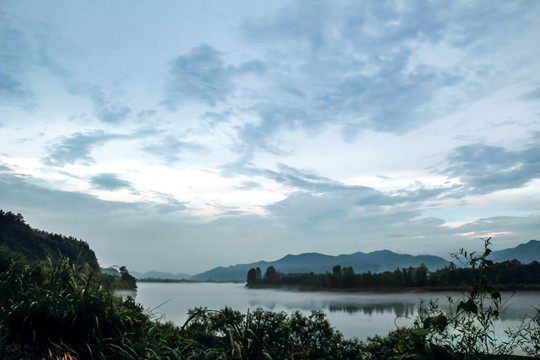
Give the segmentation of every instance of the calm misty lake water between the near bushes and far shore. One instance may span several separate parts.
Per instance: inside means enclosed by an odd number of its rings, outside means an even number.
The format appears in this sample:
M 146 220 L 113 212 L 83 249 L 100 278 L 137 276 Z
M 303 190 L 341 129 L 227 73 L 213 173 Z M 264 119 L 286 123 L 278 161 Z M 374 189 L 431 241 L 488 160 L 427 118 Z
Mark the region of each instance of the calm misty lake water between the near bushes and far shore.
M 433 292 L 410 293 L 332 293 L 292 292 L 271 289 L 246 289 L 243 284 L 212 283 L 138 283 L 136 301 L 154 317 L 182 325 L 189 309 L 204 306 L 219 310 L 229 306 L 246 313 L 248 309 L 261 307 L 265 310 L 291 313 L 299 310 L 309 315 L 312 310 L 323 310 L 333 327 L 345 337 L 365 339 L 373 335 L 386 335 L 395 329 L 412 323 L 417 313 L 419 299 L 439 299 L 446 303 L 446 295 Z M 451 293 L 460 299 L 461 293 Z M 511 294 L 503 294 L 510 297 Z M 539 292 L 514 294 L 508 301 L 509 308 L 503 314 L 497 328 L 518 324 L 525 314 L 534 314 L 533 307 L 540 306 Z

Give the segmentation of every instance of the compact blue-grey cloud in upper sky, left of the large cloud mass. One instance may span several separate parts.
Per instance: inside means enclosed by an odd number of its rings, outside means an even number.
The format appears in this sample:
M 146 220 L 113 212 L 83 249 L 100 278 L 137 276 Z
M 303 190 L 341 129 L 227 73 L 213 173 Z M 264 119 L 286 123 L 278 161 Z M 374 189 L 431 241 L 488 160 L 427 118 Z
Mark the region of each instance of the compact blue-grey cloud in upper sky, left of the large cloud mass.
M 265 65 L 250 60 L 238 67 L 226 65 L 221 52 L 208 44 L 191 49 L 170 64 L 171 78 L 165 86 L 164 101 L 171 108 L 186 100 L 196 100 L 215 106 L 224 101 L 235 89 L 235 76 L 246 73 L 263 73 Z

